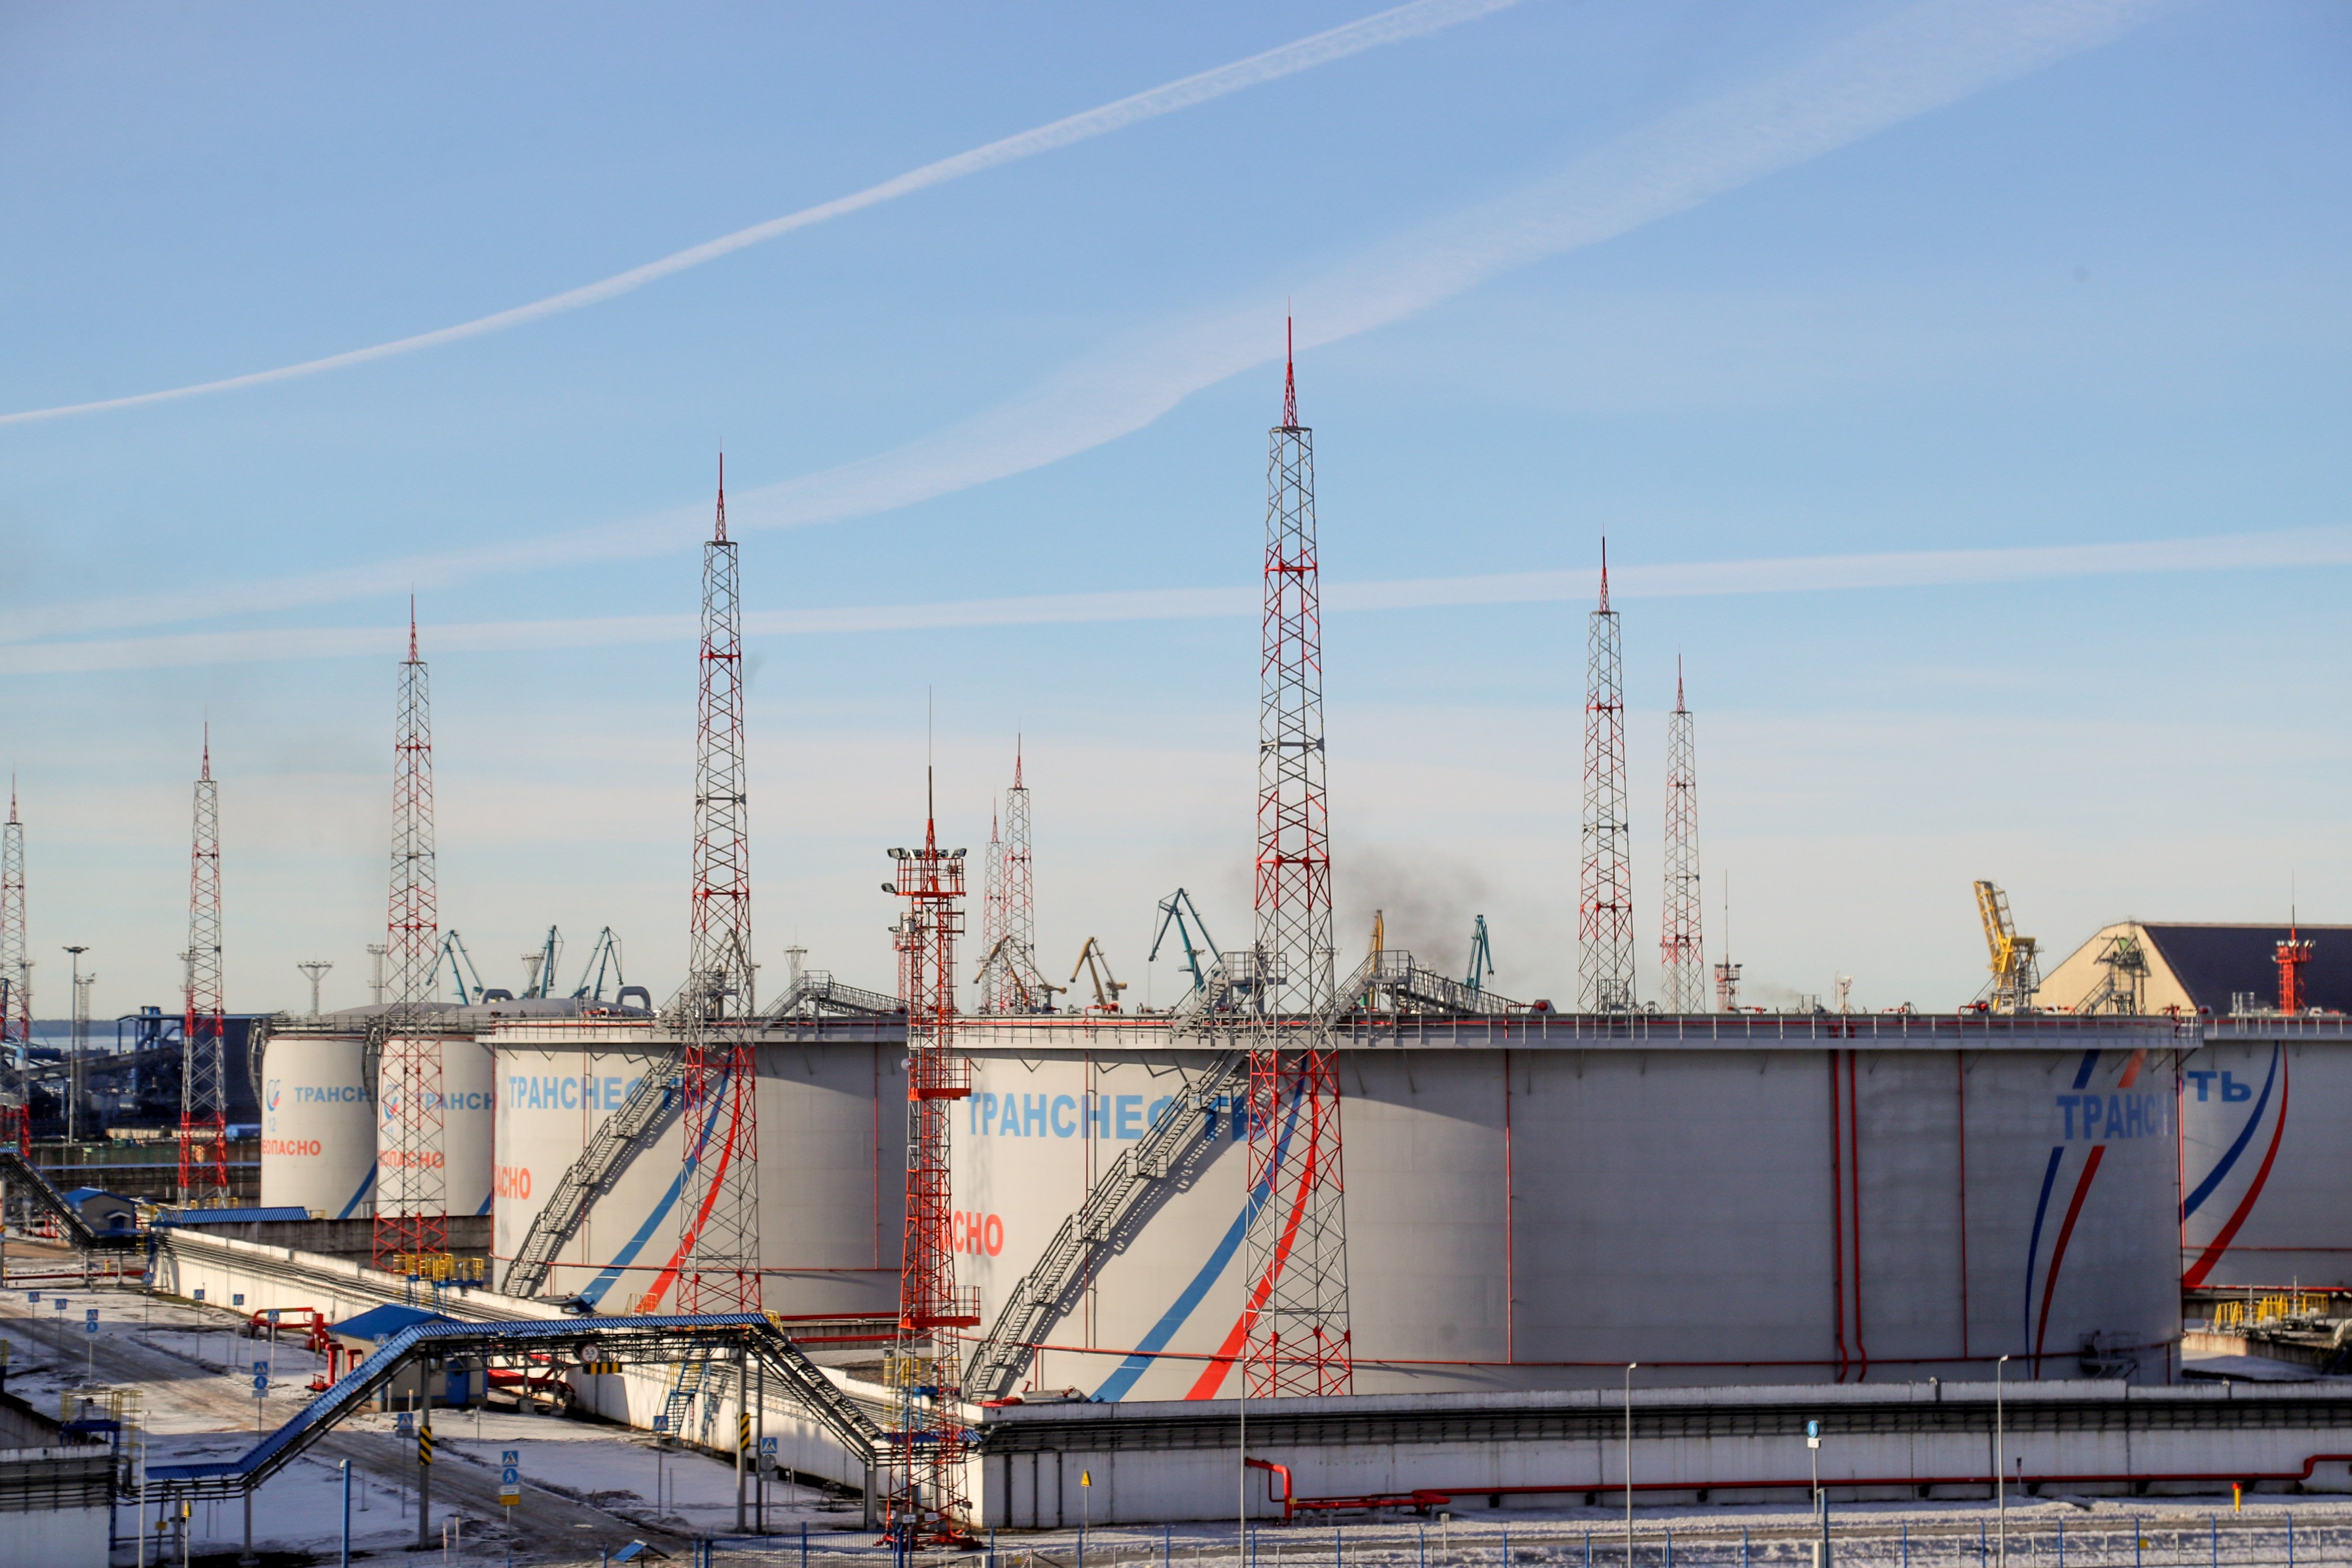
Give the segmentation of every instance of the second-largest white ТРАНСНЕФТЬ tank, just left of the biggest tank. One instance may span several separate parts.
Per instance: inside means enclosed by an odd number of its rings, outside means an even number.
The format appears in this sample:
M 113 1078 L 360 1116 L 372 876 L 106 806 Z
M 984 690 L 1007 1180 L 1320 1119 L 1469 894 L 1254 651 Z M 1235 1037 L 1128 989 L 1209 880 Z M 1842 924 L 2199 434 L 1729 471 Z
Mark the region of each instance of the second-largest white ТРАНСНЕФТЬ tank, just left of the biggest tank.
M 675 1088 L 675 1041 L 647 1023 L 506 1023 L 496 1074 L 494 1267 L 503 1272 L 548 1194 L 649 1074 L 656 1131 L 567 1237 L 541 1295 L 604 1312 L 677 1300 L 694 1215 Z M 762 1305 L 786 1314 L 891 1312 L 906 1206 L 903 1025 L 771 1025 L 753 1051 Z

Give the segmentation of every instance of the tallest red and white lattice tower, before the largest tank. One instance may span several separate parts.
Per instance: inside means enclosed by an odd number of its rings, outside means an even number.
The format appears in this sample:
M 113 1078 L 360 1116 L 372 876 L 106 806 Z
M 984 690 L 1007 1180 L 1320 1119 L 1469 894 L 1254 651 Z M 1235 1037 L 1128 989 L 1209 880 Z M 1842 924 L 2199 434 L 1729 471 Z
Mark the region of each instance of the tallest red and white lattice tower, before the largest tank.
M 1247 973 L 1249 1227 L 1242 1378 L 1251 1399 L 1355 1392 L 1348 1213 L 1331 1013 L 1322 585 L 1315 433 L 1284 355 L 1265 458 L 1256 940 Z

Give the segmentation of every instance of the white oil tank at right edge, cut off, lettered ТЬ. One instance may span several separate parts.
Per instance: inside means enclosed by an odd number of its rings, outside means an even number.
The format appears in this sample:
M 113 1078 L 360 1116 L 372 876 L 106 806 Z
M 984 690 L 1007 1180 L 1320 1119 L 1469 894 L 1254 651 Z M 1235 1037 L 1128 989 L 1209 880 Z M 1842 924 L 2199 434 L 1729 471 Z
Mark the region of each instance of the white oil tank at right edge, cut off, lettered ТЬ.
M 2180 1065 L 2180 1284 L 2352 1286 L 2343 1018 L 2216 1018 Z

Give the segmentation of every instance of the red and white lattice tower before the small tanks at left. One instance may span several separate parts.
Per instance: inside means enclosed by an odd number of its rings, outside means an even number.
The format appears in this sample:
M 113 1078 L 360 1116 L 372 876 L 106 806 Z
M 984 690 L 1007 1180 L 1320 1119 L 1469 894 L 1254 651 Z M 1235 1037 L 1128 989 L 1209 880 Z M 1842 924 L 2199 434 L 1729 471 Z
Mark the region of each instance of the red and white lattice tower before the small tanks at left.
M 449 1140 L 442 1107 L 442 1041 L 433 1030 L 433 969 L 440 959 L 437 872 L 433 863 L 433 686 L 416 656 L 416 602 L 409 599 L 409 656 L 400 665 L 393 726 L 393 898 L 383 922 L 393 971 L 376 1067 L 376 1232 L 379 1269 L 414 1269 L 414 1258 L 449 1251 Z

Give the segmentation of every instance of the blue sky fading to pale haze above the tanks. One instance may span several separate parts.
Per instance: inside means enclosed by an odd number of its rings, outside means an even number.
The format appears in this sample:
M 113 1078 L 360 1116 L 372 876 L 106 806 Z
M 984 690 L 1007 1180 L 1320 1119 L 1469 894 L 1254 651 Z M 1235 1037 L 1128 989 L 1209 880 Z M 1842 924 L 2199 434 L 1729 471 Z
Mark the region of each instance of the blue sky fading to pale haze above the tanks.
M 0 16 L 40 1011 L 64 943 L 99 1013 L 172 999 L 207 715 L 230 1004 L 301 1001 L 303 957 L 365 997 L 412 585 L 442 922 L 494 983 L 612 924 L 668 990 L 722 444 L 762 954 L 889 983 L 931 691 L 943 832 L 985 839 L 1023 733 L 1047 969 L 1094 933 L 1167 1001 L 1160 896 L 1247 931 L 1284 308 L 1327 581 L 1376 604 L 1327 628 L 1343 947 L 1378 905 L 1458 966 L 1484 912 L 1498 990 L 1573 994 L 1602 534 L 1646 969 L 1677 651 L 1752 999 L 1957 1004 L 1971 877 L 2060 950 L 2291 877 L 2347 917 L 2340 9 L 1374 16 Z M 45 414 L 529 306 L 1282 49 L 576 310 Z

